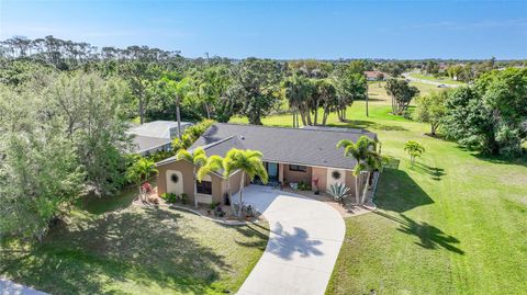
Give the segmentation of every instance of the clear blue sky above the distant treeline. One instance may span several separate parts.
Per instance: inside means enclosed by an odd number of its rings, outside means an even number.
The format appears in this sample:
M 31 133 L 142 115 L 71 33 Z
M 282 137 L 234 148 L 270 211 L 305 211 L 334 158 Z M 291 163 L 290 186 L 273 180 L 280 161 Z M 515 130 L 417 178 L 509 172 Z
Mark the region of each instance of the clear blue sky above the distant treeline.
M 231 58 L 527 58 L 527 0 L 0 0 L 0 39 Z

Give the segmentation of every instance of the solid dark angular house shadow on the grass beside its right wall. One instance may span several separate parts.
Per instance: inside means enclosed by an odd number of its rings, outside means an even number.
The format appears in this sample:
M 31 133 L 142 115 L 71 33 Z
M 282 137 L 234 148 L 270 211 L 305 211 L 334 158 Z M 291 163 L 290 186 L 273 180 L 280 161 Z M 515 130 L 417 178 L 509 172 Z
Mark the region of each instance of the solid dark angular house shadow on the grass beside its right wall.
M 374 202 L 381 209 L 403 213 L 433 204 L 434 200 L 405 171 L 385 168 L 379 180 Z

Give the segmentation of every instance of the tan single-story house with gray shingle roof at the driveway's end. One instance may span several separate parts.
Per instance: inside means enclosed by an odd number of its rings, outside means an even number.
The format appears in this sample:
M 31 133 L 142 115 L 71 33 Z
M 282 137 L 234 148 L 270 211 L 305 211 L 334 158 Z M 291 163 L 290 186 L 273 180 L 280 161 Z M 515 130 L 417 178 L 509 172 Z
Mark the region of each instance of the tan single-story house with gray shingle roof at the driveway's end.
M 262 161 L 269 182 L 290 185 L 304 182 L 313 190 L 326 191 L 336 182 L 345 183 L 355 193 L 352 170 L 356 161 L 344 157 L 344 149 L 337 149 L 340 139 L 357 140 L 366 135 L 377 140 L 377 135 L 363 129 L 310 126 L 304 128 L 269 127 L 216 123 L 206 129 L 191 149 L 203 147 L 206 155 L 225 156 L 232 148 L 256 149 L 264 154 Z M 157 163 L 157 192 L 186 193 L 193 202 L 193 164 L 187 160 L 168 158 Z M 227 181 L 231 193 L 239 191 L 242 173 L 235 172 L 229 179 L 221 173 L 210 173 L 197 182 L 199 203 L 224 203 Z M 254 180 L 258 182 L 258 180 Z M 246 184 L 249 182 L 246 181 Z

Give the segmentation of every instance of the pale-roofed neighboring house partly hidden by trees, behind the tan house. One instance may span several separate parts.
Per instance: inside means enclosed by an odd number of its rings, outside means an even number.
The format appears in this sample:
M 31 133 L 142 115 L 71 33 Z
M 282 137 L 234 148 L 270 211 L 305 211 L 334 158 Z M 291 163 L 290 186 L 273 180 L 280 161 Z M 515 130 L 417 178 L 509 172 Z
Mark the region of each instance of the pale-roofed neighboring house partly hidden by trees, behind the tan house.
M 192 123 L 181 122 L 181 133 Z M 133 154 L 148 156 L 156 151 L 168 151 L 171 140 L 178 136 L 178 122 L 154 121 L 131 127 L 127 132 L 133 136 Z

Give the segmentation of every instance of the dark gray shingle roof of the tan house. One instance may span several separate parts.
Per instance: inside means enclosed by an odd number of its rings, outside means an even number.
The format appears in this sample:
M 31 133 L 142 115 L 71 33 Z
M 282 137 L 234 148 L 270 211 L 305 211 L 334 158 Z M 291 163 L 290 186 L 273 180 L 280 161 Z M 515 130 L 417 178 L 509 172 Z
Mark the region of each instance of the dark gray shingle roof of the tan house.
M 224 156 L 232 147 L 256 149 L 269 162 L 352 169 L 356 161 L 336 149 L 338 140 L 356 141 L 366 135 L 377 135 L 363 129 L 335 127 L 284 128 L 259 125 L 216 123 L 203 133 L 191 148 L 204 146 L 206 154 Z

